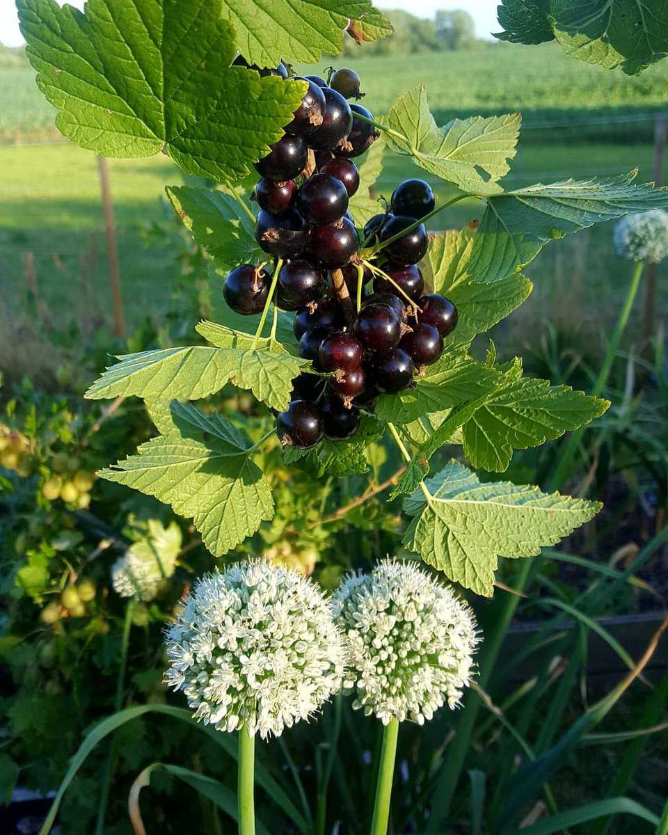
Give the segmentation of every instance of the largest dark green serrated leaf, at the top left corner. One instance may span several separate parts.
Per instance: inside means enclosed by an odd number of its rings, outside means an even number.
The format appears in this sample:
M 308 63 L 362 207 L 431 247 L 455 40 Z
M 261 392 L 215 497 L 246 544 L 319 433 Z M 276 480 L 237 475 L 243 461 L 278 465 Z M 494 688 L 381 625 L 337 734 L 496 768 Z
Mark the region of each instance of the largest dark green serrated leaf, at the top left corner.
M 273 2 L 273 0 L 272 0 Z M 232 67 L 220 0 L 18 0 L 26 53 L 56 125 L 109 157 L 164 151 L 190 174 L 238 180 L 280 139 L 303 82 Z

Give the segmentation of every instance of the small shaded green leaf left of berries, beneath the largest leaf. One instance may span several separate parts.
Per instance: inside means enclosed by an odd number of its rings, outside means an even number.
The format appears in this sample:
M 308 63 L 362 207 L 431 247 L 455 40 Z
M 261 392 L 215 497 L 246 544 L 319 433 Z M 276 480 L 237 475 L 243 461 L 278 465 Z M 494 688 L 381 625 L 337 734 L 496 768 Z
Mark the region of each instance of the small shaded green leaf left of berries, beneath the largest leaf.
M 218 261 L 231 267 L 264 257 L 251 218 L 231 194 L 191 185 L 168 185 L 166 191 L 195 242 Z

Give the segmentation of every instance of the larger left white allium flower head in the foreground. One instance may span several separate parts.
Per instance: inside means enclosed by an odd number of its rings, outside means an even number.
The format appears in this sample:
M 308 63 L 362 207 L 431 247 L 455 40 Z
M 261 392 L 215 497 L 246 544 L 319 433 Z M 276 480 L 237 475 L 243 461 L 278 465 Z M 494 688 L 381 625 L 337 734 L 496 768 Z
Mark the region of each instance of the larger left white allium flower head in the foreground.
M 341 689 L 347 660 L 316 584 L 264 559 L 198 579 L 166 642 L 164 681 L 195 718 L 263 739 L 318 711 Z

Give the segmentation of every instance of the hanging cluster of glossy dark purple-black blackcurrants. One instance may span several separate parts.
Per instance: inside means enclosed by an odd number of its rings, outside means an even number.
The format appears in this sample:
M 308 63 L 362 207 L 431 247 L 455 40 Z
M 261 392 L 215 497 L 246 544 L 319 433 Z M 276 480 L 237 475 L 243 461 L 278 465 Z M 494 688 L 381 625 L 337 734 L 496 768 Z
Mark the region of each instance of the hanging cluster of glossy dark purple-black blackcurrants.
M 272 72 L 286 77 L 282 64 Z M 286 134 L 256 163 L 261 180 L 253 199 L 260 207 L 256 240 L 281 261 L 276 302 L 295 311 L 299 354 L 331 375 L 296 377 L 291 403 L 276 417 L 281 443 L 304 449 L 323 436 L 350 438 L 361 410 L 371 412 L 380 394 L 412 387 L 416 373 L 441 356 L 457 310 L 444 296 L 424 295 L 417 266 L 428 247 L 422 219 L 435 205 L 428 183 L 397 186 L 362 236 L 348 210 L 360 183 L 352 159 L 378 136 L 372 114 L 347 101 L 362 95 L 357 73 L 339 69 L 329 83 L 314 75 L 299 80 L 308 89 Z M 380 257 L 362 261 L 362 244 Z M 263 266 L 237 266 L 225 279 L 225 300 L 238 313 L 259 313 L 272 281 Z M 359 281 L 356 312 L 351 296 Z

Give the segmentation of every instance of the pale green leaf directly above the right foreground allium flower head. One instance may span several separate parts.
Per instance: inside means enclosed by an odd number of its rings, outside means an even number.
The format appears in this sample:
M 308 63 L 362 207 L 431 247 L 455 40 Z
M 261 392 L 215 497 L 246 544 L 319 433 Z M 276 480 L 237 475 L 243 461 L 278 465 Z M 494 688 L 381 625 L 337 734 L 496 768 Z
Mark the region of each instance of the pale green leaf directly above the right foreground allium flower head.
M 601 508 L 526 484 L 483 484 L 456 461 L 428 478 L 426 492 L 418 489 L 404 501 L 413 519 L 403 544 L 453 583 L 485 597 L 493 593 L 498 557 L 535 556 Z

